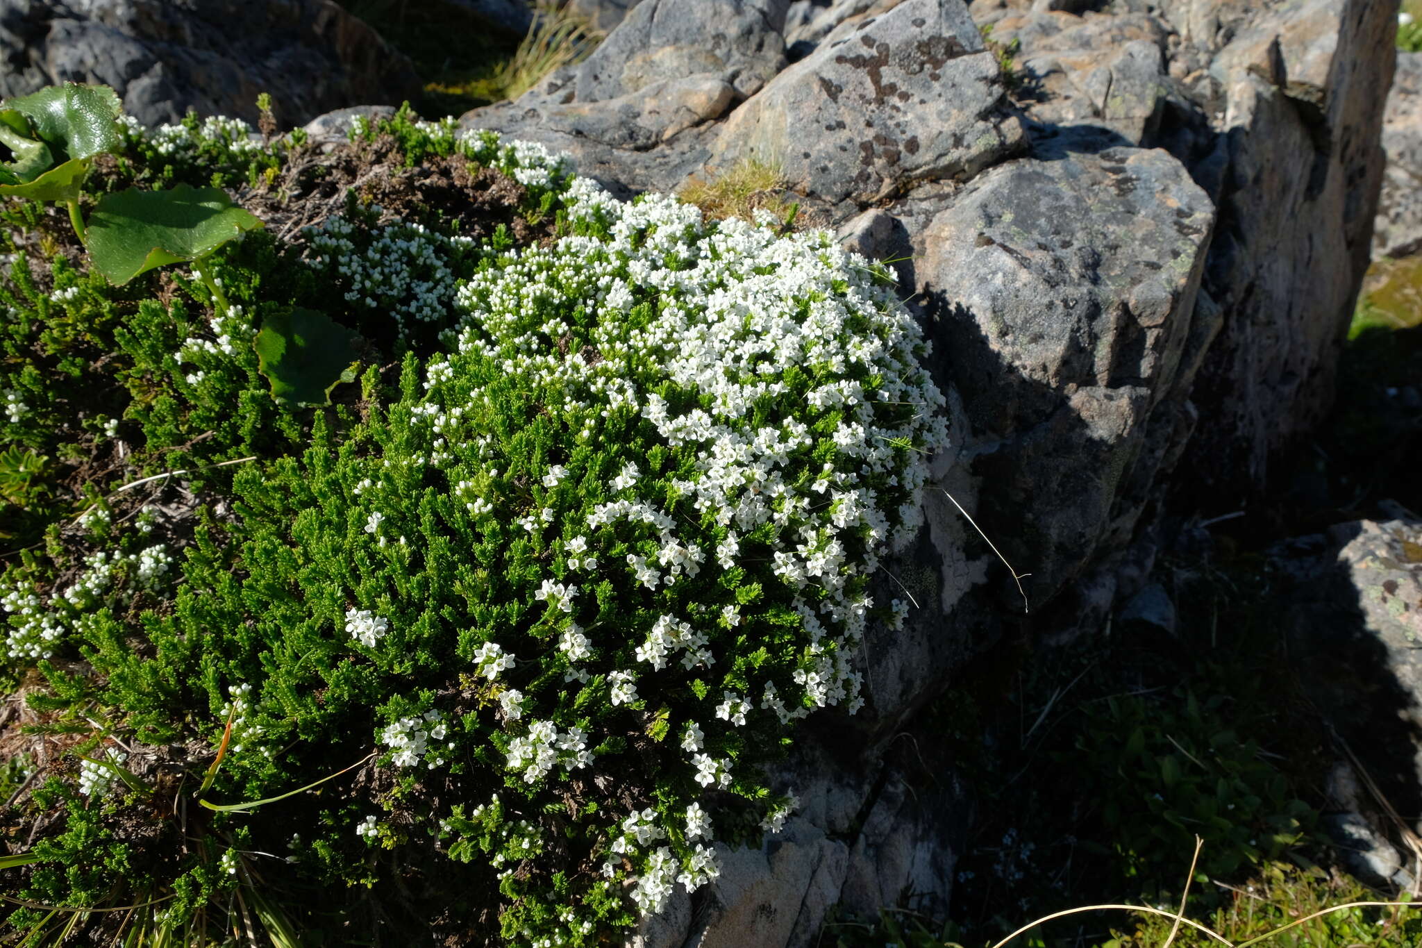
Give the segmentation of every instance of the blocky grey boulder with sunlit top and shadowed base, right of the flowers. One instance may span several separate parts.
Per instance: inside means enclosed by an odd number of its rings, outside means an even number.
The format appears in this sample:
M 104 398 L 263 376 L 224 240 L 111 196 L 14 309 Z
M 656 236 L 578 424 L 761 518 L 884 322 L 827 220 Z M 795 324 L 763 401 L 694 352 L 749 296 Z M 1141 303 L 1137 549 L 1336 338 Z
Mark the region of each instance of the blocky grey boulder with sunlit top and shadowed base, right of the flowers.
M 1179 162 L 1116 148 L 994 168 L 916 235 L 958 438 L 1038 601 L 1125 544 L 1140 507 L 1118 497 L 1160 473 L 1169 439 L 1148 432 L 1187 412 L 1212 334 L 1193 313 L 1213 220 Z

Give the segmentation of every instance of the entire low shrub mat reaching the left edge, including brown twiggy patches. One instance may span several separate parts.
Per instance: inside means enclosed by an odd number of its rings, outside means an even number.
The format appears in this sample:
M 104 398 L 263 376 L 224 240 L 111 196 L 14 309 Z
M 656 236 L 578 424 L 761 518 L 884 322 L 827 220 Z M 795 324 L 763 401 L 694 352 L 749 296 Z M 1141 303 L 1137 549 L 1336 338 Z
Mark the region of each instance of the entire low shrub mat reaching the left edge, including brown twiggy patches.
M 412 223 L 374 176 L 316 215 L 279 193 L 330 173 L 303 142 L 183 128 L 97 173 L 210 168 L 310 223 L 115 289 L 6 209 L 4 499 L 53 517 L 0 574 L 50 740 L 3 824 L 14 931 L 604 944 L 778 831 L 764 765 L 863 704 L 865 625 L 906 611 L 870 581 L 946 438 L 887 273 L 407 111 L 346 158 L 518 219 Z

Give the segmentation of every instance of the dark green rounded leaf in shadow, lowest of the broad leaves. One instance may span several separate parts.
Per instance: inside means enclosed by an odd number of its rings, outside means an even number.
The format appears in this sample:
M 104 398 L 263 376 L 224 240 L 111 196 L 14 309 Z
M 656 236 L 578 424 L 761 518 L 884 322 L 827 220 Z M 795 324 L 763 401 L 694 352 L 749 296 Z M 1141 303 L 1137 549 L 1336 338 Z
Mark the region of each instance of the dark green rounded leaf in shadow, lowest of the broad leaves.
M 326 405 L 333 388 L 356 381 L 357 338 L 324 313 L 276 310 L 262 321 L 255 341 L 257 370 L 279 402 Z

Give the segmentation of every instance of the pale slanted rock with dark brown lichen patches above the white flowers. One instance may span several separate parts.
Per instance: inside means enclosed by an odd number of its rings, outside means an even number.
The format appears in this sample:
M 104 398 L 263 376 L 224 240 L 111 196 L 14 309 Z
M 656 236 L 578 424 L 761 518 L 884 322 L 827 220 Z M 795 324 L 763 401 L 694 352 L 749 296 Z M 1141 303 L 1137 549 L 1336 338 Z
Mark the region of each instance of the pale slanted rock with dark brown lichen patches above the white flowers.
M 717 166 L 778 163 L 796 189 L 870 203 L 968 178 L 1022 144 L 997 60 L 961 0 L 907 0 L 825 43 L 727 119 Z

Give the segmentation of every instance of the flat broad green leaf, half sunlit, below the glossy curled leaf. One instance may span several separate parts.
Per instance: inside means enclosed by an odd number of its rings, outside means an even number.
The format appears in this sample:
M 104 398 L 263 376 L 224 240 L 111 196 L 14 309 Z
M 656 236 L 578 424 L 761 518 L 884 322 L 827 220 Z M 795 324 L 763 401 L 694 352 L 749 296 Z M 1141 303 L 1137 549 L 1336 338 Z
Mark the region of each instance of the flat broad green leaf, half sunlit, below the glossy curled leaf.
M 115 286 L 166 263 L 205 257 L 262 220 L 220 188 L 121 190 L 104 195 L 88 220 L 94 267 Z

